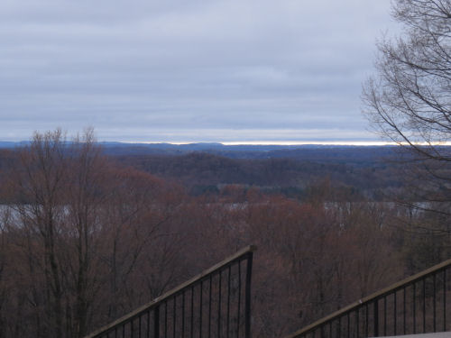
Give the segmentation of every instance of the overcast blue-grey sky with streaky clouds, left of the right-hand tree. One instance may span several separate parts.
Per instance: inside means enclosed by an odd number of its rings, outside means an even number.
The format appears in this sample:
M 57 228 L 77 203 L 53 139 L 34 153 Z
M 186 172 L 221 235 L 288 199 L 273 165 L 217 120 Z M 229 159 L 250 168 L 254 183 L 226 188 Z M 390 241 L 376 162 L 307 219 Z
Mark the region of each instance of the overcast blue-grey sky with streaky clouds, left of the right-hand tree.
M 2 0 L 0 140 L 377 141 L 390 0 Z

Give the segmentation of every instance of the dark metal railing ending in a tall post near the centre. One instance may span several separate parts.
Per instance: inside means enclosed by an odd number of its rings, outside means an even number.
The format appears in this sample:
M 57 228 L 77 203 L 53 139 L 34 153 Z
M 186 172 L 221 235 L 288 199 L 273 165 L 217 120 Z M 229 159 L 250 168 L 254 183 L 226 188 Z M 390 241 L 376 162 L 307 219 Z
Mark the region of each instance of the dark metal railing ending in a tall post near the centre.
M 85 338 L 250 338 L 255 250 L 236 252 Z

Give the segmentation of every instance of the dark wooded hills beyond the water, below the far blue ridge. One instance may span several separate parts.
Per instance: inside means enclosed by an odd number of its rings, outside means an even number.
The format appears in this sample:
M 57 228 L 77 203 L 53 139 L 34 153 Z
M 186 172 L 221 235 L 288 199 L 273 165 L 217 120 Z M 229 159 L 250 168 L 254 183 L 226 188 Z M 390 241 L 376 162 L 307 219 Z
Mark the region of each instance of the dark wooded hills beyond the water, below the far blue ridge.
M 369 154 L 363 156 L 365 151 Z M 383 192 L 401 186 L 400 165 L 390 162 L 394 153 L 373 153 L 372 149 L 365 147 L 337 147 L 269 153 L 196 151 L 176 156 L 121 154 L 114 158 L 124 165 L 175 180 L 191 195 L 220 194 L 222 187 L 234 184 L 302 199 L 308 195 L 308 187 L 312 183 L 330 178 L 336 190 L 350 190 L 355 199 L 371 196 L 374 200 L 382 200 Z

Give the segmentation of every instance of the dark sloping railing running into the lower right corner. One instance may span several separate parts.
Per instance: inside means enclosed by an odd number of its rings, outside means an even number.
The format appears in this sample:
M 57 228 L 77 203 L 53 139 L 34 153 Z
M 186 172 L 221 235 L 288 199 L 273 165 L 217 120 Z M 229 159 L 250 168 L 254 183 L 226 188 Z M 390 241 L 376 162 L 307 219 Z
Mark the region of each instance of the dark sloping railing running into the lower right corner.
M 451 330 L 451 259 L 319 319 L 285 338 L 355 338 Z

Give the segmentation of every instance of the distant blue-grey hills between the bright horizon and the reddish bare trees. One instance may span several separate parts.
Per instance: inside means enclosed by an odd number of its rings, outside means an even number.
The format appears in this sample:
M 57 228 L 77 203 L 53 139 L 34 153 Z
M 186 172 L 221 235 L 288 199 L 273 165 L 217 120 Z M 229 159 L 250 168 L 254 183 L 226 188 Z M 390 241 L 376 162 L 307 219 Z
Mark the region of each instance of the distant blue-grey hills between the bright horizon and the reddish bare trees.
M 22 144 L 0 142 L 0 148 Z M 354 191 L 355 198 L 379 198 L 380 191 L 401 185 L 399 167 L 391 162 L 398 149 L 393 146 L 99 144 L 118 162 L 177 181 L 195 195 L 238 184 L 302 196 L 309 185 L 328 178 L 334 186 Z M 0 167 L 8 156 L 0 156 Z

